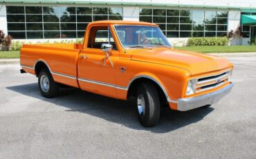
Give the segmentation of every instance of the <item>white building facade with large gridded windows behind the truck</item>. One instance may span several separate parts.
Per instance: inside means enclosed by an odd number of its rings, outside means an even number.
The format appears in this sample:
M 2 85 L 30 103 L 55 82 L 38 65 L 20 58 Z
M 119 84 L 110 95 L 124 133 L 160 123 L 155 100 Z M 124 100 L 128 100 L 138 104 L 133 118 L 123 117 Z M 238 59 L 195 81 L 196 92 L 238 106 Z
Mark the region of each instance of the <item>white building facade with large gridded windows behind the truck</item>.
M 0 1 L 0 30 L 23 41 L 77 39 L 89 22 L 112 19 L 158 24 L 176 46 L 189 37 L 223 37 L 230 30 L 243 35 L 234 44 L 256 38 L 256 1 L 250 0 Z

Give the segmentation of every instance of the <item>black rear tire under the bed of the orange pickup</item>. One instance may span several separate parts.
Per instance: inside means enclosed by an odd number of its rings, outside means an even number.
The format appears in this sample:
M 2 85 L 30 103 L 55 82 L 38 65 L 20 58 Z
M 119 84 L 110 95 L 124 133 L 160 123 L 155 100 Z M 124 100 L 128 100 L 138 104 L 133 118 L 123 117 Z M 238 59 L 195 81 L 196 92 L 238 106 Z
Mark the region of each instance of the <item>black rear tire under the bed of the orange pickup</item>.
M 47 78 L 48 79 L 48 89 L 44 89 L 41 84 L 42 84 L 42 79 Z M 46 80 L 47 80 L 46 79 Z M 42 70 L 40 71 L 39 75 L 38 75 L 38 86 L 39 86 L 39 90 L 40 93 L 44 96 L 44 97 L 56 97 L 58 92 L 59 92 L 59 84 L 57 84 L 54 80 L 53 80 L 53 76 L 51 75 L 50 71 L 48 71 L 47 68 L 42 68 Z

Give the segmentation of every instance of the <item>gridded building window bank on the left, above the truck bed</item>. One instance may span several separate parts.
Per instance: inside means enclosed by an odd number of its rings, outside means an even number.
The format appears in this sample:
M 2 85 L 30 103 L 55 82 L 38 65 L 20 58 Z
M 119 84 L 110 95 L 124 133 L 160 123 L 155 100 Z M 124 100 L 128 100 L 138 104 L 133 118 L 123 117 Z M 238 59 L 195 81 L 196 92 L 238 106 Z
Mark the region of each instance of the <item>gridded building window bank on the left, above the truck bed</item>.
M 82 38 L 91 21 L 122 20 L 122 8 L 6 6 L 13 39 Z

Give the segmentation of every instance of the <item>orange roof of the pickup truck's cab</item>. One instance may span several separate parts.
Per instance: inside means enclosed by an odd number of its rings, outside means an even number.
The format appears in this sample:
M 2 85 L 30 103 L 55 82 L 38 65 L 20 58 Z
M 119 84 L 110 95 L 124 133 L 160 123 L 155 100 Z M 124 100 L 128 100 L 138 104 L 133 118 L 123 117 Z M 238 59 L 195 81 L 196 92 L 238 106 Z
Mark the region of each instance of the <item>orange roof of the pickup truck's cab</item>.
M 158 26 L 156 24 L 147 23 L 143 21 L 121 21 L 121 20 L 115 20 L 115 21 L 93 21 L 89 25 L 93 24 L 128 24 L 128 25 L 143 25 L 143 26 Z

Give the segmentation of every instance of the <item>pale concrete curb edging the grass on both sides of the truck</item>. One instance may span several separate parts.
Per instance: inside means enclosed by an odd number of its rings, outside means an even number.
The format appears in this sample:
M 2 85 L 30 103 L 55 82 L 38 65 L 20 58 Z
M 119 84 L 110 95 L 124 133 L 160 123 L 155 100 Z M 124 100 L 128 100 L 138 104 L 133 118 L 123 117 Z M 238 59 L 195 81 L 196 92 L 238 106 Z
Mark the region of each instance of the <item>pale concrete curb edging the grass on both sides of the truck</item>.
M 256 53 L 207 53 L 219 57 L 256 57 Z M 19 59 L 0 59 L 0 64 L 19 64 Z

